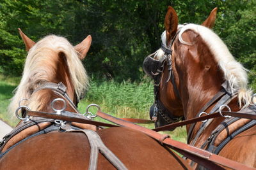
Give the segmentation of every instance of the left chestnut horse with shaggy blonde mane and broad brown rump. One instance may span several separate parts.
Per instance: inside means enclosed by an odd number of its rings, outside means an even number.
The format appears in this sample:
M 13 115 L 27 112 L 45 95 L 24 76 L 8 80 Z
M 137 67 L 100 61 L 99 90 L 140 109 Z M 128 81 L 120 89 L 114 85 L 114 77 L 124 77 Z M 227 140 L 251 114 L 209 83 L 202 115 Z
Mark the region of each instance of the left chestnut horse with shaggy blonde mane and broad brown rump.
M 81 59 L 84 59 L 90 48 L 91 36 L 85 38 L 79 45 L 72 46 L 67 39 L 59 36 L 47 36 L 35 43 L 21 31 L 20 35 L 28 50 L 28 56 L 22 80 L 10 104 L 10 111 L 14 113 L 19 101 L 26 98 L 20 102 L 22 106 L 52 113 L 52 100 L 63 98 L 69 103 L 66 111 L 76 112 L 70 101 L 76 104 L 88 85 Z M 52 90 L 52 87 L 47 87 L 59 82 L 62 82 L 62 87 L 67 87 L 66 92 L 70 101 Z M 54 104 L 54 108 L 62 107 L 61 101 Z M 25 114 L 22 113 L 24 117 Z M 19 127 L 33 123 L 31 120 L 24 121 L 20 122 Z M 6 141 L 0 152 L 0 169 L 88 169 L 92 145 L 84 133 L 63 132 L 59 129 L 33 136 L 35 132 L 49 131 L 47 128 L 52 124 L 57 126 L 54 122 L 37 123 Z M 93 131 L 97 129 L 94 125 L 71 125 Z M 176 153 L 142 132 L 112 127 L 101 129 L 97 134 L 127 169 L 190 169 Z M 24 138 L 26 140 L 22 141 Z M 95 169 L 115 167 L 109 159 L 99 154 Z

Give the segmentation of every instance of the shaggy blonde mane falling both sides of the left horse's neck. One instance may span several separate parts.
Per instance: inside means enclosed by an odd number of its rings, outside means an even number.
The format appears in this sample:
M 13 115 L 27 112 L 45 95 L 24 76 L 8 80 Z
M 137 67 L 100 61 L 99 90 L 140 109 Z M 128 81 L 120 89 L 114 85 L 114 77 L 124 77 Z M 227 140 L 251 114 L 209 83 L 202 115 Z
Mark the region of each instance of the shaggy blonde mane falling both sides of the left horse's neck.
M 24 71 L 19 86 L 15 89 L 15 95 L 11 99 L 9 112 L 14 114 L 21 99 L 31 99 L 31 92 L 42 83 L 52 81 L 52 76 L 57 73 L 57 61 L 59 53 L 65 54 L 67 65 L 72 78 L 72 84 L 77 98 L 83 96 L 88 87 L 88 76 L 74 47 L 67 39 L 60 36 L 46 36 L 33 46 L 26 57 Z M 35 99 L 37 101 L 35 101 Z M 38 110 L 42 103 L 37 98 L 31 101 L 22 101 L 31 110 Z

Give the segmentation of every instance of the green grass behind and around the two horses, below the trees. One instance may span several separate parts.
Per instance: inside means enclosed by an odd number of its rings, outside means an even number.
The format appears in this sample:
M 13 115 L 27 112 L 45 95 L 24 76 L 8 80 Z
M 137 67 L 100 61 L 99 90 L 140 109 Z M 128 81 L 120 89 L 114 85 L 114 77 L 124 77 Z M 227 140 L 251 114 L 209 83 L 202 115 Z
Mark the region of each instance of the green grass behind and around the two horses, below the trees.
M 14 127 L 19 120 L 13 118 L 7 113 L 8 104 L 12 97 L 12 91 L 17 87 L 19 78 L 6 78 L 0 75 L 0 118 L 4 122 Z M 148 111 L 153 103 L 153 85 L 150 81 L 141 83 L 132 83 L 124 81 L 116 83 L 115 81 L 91 81 L 91 87 L 86 93 L 86 97 L 80 101 L 78 110 L 84 113 L 88 104 L 98 104 L 100 109 L 105 113 L 109 113 L 115 117 L 130 117 L 148 119 Z M 90 108 L 92 113 L 97 111 L 97 108 Z M 100 122 L 108 122 L 101 118 L 95 118 Z M 109 122 L 108 122 L 109 123 Z M 141 124 L 149 129 L 154 128 L 153 124 Z M 169 134 L 172 139 L 186 143 L 186 129 L 179 127 L 172 132 L 161 132 Z

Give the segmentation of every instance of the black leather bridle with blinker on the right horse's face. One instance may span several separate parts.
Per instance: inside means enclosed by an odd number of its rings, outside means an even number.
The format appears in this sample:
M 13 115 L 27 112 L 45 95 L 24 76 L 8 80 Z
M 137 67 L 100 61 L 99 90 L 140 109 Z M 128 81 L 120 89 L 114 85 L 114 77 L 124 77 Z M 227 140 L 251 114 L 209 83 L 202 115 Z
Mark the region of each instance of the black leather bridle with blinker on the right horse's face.
M 152 106 L 154 108 L 150 110 L 150 118 L 154 120 L 155 124 L 158 126 L 160 125 L 160 122 L 164 122 L 164 124 L 172 124 L 184 119 L 183 116 L 177 117 L 173 115 L 172 112 L 170 112 L 159 99 L 159 86 L 161 79 L 163 78 L 165 64 L 168 67 L 168 79 L 166 83 L 168 83 L 168 81 L 172 82 L 175 95 L 180 98 L 179 90 L 177 89 L 172 69 L 172 45 L 178 34 L 179 31 L 176 32 L 170 45 L 167 48 L 162 43 L 161 50 L 164 52 L 162 59 L 154 59 L 154 55 L 156 55 L 155 52 L 148 55 L 143 62 L 143 70 L 146 74 L 148 74 L 148 76 L 150 76 L 150 78 L 154 80 L 154 104 Z

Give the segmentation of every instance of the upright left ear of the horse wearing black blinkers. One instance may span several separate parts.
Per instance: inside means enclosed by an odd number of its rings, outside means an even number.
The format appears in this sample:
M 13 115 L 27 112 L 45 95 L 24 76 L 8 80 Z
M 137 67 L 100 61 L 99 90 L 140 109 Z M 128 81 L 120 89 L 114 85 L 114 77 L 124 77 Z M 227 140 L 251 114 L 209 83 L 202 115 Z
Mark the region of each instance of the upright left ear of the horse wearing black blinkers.
M 172 6 L 168 6 L 168 11 L 164 19 L 164 27 L 166 31 L 166 44 L 169 45 L 178 29 L 178 17 Z

